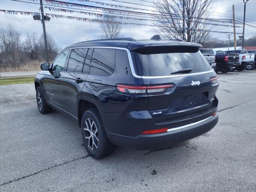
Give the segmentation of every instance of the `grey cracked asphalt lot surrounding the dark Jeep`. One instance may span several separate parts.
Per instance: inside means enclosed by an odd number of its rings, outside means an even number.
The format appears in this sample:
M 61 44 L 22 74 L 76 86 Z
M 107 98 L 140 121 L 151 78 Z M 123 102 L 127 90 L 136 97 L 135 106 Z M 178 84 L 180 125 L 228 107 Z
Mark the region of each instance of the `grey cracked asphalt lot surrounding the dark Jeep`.
M 33 84 L 0 86 L 0 191 L 255 192 L 256 71 L 218 76 L 210 132 L 164 150 L 119 147 L 102 160 L 88 156 L 72 119 L 38 112 Z

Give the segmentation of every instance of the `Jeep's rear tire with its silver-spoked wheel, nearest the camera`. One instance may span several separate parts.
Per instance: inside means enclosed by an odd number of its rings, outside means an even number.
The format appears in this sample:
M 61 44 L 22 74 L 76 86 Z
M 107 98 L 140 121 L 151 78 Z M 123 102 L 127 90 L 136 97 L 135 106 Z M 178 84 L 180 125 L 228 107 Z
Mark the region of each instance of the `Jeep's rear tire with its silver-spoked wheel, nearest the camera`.
M 114 145 L 108 140 L 96 108 L 86 110 L 81 120 L 82 138 L 87 152 L 95 159 L 110 155 Z

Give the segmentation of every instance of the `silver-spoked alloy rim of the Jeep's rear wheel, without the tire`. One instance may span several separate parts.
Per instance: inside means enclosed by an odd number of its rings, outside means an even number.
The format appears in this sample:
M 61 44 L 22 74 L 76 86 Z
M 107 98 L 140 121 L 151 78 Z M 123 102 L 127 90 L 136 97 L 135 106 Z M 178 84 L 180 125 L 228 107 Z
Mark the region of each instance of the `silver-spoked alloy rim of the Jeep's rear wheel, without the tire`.
M 98 129 L 94 121 L 90 118 L 85 120 L 84 137 L 88 143 L 88 148 L 93 151 L 98 148 Z

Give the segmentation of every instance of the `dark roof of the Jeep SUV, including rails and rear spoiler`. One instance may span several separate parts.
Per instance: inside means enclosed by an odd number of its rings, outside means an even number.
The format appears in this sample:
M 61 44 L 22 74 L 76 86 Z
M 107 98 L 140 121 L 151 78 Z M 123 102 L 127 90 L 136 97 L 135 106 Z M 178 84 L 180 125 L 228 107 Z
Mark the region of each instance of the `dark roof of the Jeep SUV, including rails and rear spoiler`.
M 135 40 L 134 38 L 117 38 L 78 42 L 73 45 L 67 46 L 64 49 L 86 46 L 120 47 L 127 48 L 130 51 L 151 46 L 196 46 L 198 48 L 202 47 L 200 44 L 185 42 L 183 40 Z

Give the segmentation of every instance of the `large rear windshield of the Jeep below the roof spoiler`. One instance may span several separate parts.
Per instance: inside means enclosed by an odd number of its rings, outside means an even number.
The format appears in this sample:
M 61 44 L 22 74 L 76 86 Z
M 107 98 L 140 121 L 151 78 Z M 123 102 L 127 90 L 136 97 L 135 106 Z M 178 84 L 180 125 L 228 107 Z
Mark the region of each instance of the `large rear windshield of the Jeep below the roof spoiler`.
M 170 76 L 179 70 L 192 68 L 189 73 L 211 70 L 210 64 L 199 52 L 138 53 L 132 52 L 136 74 L 141 76 Z

